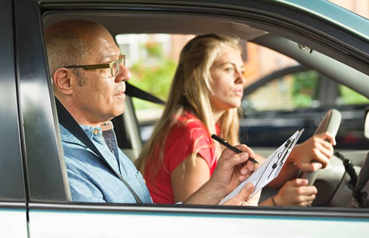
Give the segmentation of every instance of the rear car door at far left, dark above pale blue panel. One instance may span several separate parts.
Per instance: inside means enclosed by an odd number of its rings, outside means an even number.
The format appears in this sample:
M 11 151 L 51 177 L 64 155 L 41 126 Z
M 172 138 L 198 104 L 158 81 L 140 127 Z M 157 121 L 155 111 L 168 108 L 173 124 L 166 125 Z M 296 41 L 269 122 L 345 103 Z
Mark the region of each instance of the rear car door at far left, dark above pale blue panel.
M 0 236 L 27 237 L 27 203 L 20 147 L 14 65 L 13 9 L 0 8 Z

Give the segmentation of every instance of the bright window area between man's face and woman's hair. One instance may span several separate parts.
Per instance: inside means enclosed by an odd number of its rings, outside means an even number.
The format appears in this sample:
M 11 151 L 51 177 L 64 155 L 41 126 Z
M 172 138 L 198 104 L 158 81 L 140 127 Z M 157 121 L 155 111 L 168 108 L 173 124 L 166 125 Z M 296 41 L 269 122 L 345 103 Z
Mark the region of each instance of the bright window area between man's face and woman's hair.
M 132 73 L 129 83 L 165 101 L 180 51 L 192 37 L 170 34 L 117 35 L 116 41 L 122 54 L 126 55 L 126 65 Z M 133 99 L 133 103 L 138 122 L 143 127 L 158 120 L 164 109 L 163 106 L 137 98 Z

